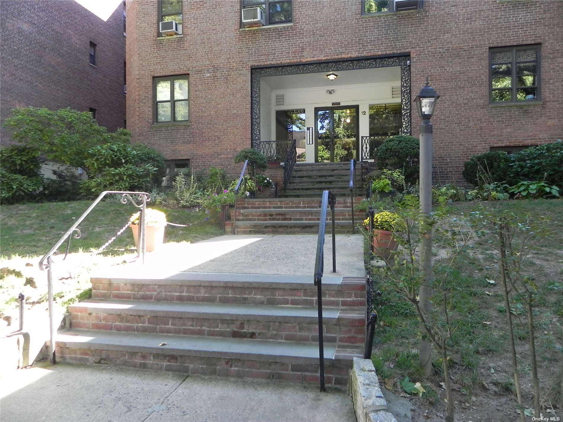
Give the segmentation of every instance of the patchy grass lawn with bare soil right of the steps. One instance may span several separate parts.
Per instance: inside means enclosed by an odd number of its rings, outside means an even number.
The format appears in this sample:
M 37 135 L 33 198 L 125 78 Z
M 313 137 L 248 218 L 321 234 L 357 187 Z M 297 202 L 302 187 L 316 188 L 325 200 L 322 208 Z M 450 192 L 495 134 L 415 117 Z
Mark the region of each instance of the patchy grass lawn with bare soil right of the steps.
M 488 208 L 510 209 L 522 216 L 543 215 L 549 219 L 553 231 L 552 239 L 539 244 L 525 262 L 528 273 L 538 285 L 534 307 L 535 347 L 541 400 L 546 410 L 560 402 L 563 375 L 563 200 L 455 203 L 452 214 L 461 216 L 462 213 L 470 213 L 478 210 L 481 204 Z M 452 309 L 450 318 L 455 321 L 449 348 L 457 402 L 456 420 L 490 420 L 491 414 L 495 414 L 494 419 L 498 420 L 517 420 L 499 257 L 484 240 L 478 240 L 476 246 L 472 252 L 458 259 L 450 274 L 455 285 L 448 300 Z M 429 380 L 423 379 L 418 365 L 418 320 L 414 308 L 394 292 L 391 281 L 381 276 L 375 278 L 378 279 L 377 289 L 383 292 L 375 304 L 379 325 L 376 327 L 372 360 L 377 373 L 385 385 L 394 386 L 396 394 L 401 394 L 399 380 L 405 376 L 413 382 L 420 381 L 427 393 L 422 399 L 411 400 L 422 412 L 432 415 L 428 416 L 430 420 L 434 420 L 433 417 L 440 420 L 439 415 L 445 414 L 445 392 L 440 386 L 443 381 L 440 356 L 434 354 L 434 376 Z M 494 284 L 489 280 L 495 281 Z M 431 300 L 432 307 L 443 306 L 444 299 L 440 294 L 435 292 Z M 531 407 L 528 321 L 520 294 L 512 294 L 511 306 L 524 403 L 526 407 Z

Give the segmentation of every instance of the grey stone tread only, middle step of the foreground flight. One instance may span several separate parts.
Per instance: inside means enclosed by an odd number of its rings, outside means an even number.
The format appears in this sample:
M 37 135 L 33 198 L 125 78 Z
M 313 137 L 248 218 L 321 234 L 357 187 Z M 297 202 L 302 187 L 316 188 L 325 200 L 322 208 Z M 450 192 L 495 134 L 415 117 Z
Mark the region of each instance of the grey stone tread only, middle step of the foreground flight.
M 70 312 L 86 309 L 92 313 L 111 313 L 124 315 L 222 318 L 237 320 L 287 321 L 300 318 L 302 322 L 318 321 L 317 307 L 276 306 L 276 305 L 242 305 L 227 303 L 193 303 L 193 302 L 159 302 L 153 300 L 85 300 L 69 306 Z M 323 307 L 323 321 L 336 320 L 339 308 Z M 354 312 L 346 309 L 346 315 Z M 356 313 L 358 311 L 356 310 Z M 305 319 L 303 319 L 305 318 Z

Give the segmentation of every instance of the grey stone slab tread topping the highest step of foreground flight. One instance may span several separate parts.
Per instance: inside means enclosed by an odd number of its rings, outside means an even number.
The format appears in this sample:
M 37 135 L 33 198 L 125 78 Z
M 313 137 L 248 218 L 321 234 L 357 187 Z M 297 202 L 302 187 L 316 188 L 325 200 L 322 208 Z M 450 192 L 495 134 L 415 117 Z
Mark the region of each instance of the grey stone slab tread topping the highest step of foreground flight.
M 316 223 L 318 224 L 318 223 Z M 122 272 L 122 273 L 120 273 Z M 280 289 L 315 289 L 313 276 L 280 275 L 280 274 L 243 274 L 228 272 L 191 272 L 181 271 L 166 278 L 157 279 L 144 273 L 131 275 L 126 268 L 115 267 L 111 275 L 92 277 L 92 282 L 110 281 L 122 284 L 160 284 L 186 286 L 228 286 L 228 287 L 258 287 Z M 339 290 L 343 283 L 339 276 L 324 275 L 323 289 Z

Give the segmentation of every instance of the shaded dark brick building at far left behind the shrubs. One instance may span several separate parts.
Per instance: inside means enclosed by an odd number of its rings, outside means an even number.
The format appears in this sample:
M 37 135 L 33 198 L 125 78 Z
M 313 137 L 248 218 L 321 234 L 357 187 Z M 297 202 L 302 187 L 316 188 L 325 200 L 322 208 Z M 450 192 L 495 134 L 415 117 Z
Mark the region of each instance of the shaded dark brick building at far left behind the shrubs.
M 104 21 L 74 1 L 2 1 L 0 20 L 1 122 L 34 106 L 95 110 L 109 131 L 126 124 L 123 4 Z

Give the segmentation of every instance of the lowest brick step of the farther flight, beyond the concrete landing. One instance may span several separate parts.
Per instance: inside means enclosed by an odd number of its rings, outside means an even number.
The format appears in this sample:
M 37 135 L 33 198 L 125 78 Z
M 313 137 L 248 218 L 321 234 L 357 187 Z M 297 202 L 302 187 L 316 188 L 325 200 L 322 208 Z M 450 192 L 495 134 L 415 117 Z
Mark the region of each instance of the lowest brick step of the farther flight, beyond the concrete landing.
M 356 222 L 358 225 L 360 221 Z M 336 233 L 351 234 L 352 220 L 335 221 Z M 357 230 L 356 230 L 357 231 Z M 318 234 L 318 221 L 237 221 L 236 234 Z M 326 232 L 332 233 L 332 222 L 327 223 Z

